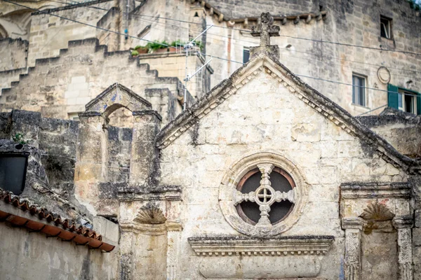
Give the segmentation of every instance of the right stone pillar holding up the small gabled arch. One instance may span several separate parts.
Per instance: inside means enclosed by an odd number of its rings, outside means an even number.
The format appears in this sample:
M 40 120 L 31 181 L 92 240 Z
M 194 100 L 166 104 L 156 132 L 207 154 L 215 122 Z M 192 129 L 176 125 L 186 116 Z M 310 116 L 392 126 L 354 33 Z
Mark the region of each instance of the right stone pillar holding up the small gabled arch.
M 158 153 L 155 137 L 161 128 L 161 116 L 153 110 L 135 111 L 130 162 L 130 185 L 154 185 Z

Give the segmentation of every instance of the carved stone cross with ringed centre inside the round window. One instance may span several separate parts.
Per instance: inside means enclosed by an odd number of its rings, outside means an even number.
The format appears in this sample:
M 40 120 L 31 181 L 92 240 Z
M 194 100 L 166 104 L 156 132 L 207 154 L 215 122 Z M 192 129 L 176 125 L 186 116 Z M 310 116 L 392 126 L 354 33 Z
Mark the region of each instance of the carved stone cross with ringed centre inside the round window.
M 260 186 L 250 193 L 241 193 L 239 190 L 236 191 L 234 205 L 240 204 L 243 201 L 255 202 L 259 205 L 260 219 L 256 226 L 268 227 L 272 226 L 269 221 L 270 207 L 274 202 L 281 202 L 283 200 L 289 200 L 295 203 L 295 192 L 294 189 L 289 190 L 288 193 L 274 190 L 269 181 L 269 174 L 272 173 L 274 165 L 272 164 L 261 164 L 258 165 L 260 172 L 262 173 L 262 179 L 260 180 Z

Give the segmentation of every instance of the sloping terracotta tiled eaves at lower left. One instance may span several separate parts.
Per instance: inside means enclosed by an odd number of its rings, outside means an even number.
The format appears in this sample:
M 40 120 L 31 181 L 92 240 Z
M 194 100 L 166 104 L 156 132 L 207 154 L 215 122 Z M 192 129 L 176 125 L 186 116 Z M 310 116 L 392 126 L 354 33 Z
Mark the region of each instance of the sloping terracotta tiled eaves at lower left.
M 102 236 L 74 221 L 63 219 L 45 208 L 22 200 L 17 195 L 0 189 L 0 221 L 25 227 L 31 232 L 43 232 L 50 237 L 59 237 L 63 241 L 73 241 L 89 248 L 110 252 L 114 245 L 102 241 Z

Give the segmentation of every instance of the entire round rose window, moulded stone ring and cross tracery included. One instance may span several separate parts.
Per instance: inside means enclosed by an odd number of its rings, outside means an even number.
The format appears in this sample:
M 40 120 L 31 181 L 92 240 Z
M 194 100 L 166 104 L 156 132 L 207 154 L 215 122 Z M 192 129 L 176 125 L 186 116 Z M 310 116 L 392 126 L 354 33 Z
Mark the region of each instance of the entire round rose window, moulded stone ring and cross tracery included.
M 227 169 L 219 201 L 225 220 L 255 237 L 279 235 L 302 216 L 308 185 L 292 160 L 272 151 L 250 153 Z

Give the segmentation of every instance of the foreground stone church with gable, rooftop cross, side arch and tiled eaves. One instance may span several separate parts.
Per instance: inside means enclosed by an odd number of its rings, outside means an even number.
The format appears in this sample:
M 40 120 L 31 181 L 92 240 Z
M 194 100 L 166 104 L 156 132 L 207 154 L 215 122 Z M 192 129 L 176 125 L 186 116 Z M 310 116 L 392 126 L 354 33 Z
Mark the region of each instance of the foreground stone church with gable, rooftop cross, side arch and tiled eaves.
M 5 279 L 421 276 L 420 160 L 283 66 L 260 22 L 250 61 L 168 125 L 123 85 L 80 122 L 1 114 L 1 165 L 27 160 L 0 193 Z M 121 107 L 133 130 L 109 125 Z

